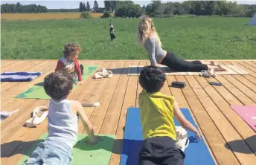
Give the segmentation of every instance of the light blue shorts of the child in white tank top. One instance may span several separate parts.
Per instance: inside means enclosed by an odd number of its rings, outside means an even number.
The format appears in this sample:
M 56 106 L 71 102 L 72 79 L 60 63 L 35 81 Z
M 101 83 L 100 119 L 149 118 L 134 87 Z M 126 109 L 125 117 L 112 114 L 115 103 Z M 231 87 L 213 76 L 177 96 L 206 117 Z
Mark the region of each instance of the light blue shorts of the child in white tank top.
M 22 165 L 71 165 L 71 150 L 65 143 L 45 140 L 38 144 L 31 157 Z

